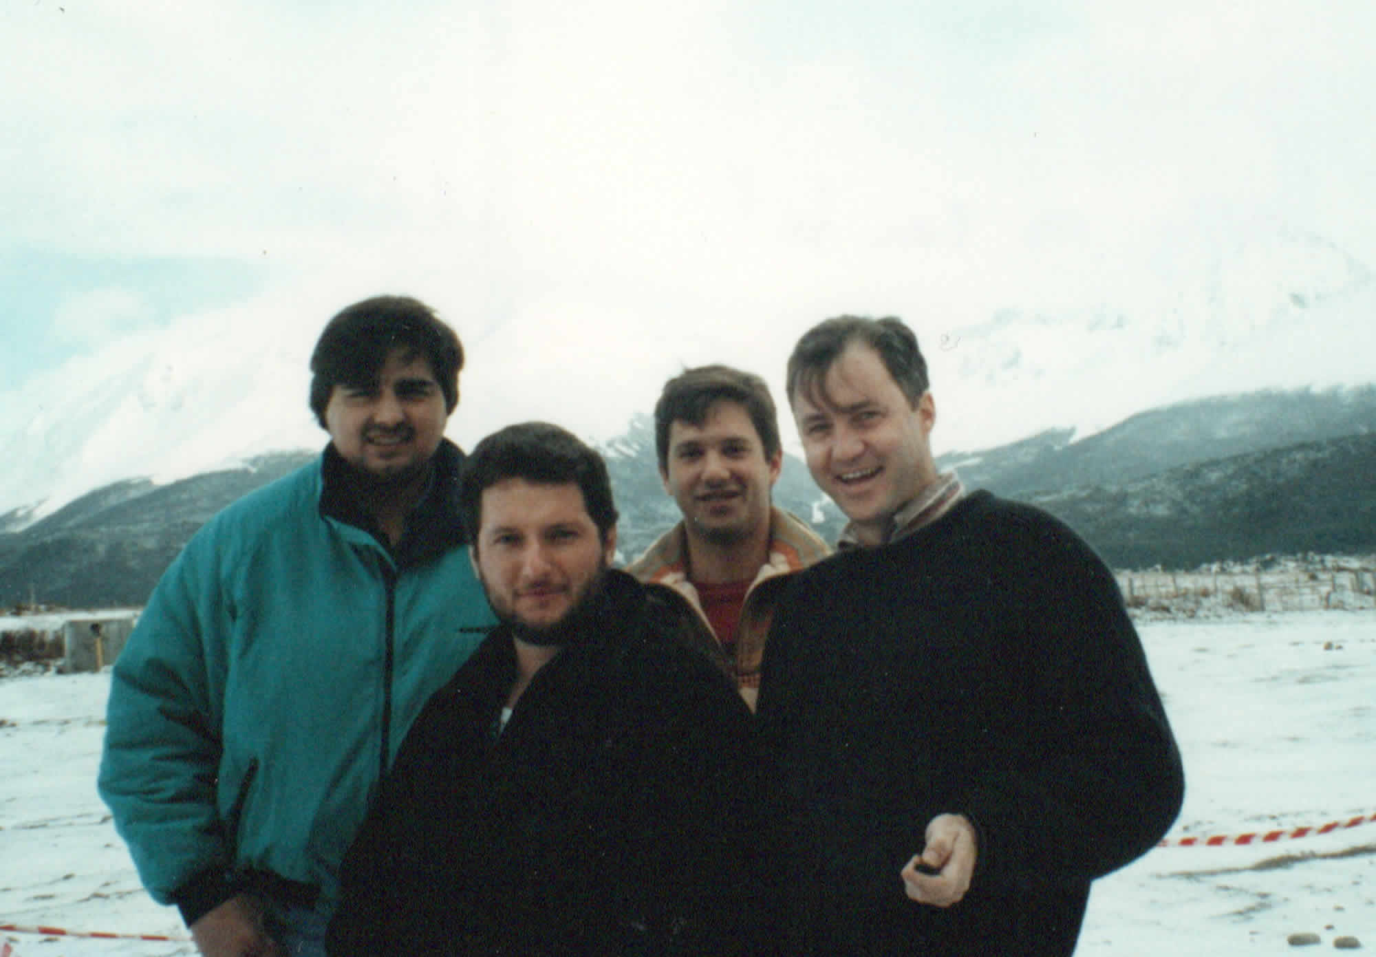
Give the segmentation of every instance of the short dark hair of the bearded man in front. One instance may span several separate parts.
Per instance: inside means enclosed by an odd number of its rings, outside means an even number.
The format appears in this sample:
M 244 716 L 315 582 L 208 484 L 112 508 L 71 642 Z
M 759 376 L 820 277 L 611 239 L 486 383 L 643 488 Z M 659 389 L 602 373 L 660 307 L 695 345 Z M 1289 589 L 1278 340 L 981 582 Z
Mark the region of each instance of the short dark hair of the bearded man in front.
M 522 422 L 483 439 L 464 462 L 458 507 L 469 542 L 477 540 L 483 524 L 483 491 L 504 478 L 542 485 L 577 484 L 603 542 L 616 525 L 611 478 L 601 455 L 557 425 Z

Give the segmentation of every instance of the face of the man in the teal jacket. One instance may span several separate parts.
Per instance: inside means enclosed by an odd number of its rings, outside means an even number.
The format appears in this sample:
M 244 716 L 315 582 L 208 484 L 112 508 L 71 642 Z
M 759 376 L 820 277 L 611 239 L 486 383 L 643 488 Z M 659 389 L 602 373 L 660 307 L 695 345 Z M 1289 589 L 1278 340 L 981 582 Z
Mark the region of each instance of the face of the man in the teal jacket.
M 421 474 L 444 436 L 449 411 L 429 362 L 392 349 L 373 382 L 337 384 L 325 407 L 334 450 L 377 483 Z

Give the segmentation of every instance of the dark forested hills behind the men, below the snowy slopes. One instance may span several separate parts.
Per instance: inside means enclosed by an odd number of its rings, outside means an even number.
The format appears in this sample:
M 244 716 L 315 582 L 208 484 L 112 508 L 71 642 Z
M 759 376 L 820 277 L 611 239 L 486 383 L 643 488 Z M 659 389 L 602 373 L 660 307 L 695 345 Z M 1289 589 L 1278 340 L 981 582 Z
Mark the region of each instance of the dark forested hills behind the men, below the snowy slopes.
M 969 487 L 1061 516 L 1119 568 L 1376 551 L 1373 424 L 1376 388 L 1265 392 L 1153 410 L 1077 443 L 1069 430 L 1049 430 L 938 465 L 955 465 Z M 678 510 L 659 481 L 648 415 L 633 417 L 601 451 L 630 561 Z M 0 531 L 0 604 L 32 588 L 69 606 L 142 605 L 206 518 L 314 455 L 260 456 L 168 485 L 121 481 L 23 531 Z M 843 524 L 794 456 L 784 456 L 775 502 L 831 542 Z

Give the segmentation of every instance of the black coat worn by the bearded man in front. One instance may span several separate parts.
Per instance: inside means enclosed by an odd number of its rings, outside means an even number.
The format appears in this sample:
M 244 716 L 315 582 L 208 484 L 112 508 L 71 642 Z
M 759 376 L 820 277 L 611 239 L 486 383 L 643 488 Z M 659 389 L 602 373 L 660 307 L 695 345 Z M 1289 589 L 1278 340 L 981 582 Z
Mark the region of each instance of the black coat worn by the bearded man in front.
M 332 954 L 732 954 L 764 934 L 750 712 L 608 572 L 535 675 L 498 628 L 428 704 L 341 870 Z

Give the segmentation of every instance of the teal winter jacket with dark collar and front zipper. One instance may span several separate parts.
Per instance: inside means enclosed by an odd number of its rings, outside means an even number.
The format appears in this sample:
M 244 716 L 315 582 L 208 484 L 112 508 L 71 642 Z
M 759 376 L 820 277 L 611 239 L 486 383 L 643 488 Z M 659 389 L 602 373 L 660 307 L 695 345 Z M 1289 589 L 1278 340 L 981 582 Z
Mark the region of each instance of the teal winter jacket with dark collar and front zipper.
M 187 923 L 246 874 L 333 906 L 411 722 L 495 624 L 462 547 L 461 462 L 443 443 L 392 553 L 326 448 L 212 518 L 154 590 L 113 670 L 99 789 Z

